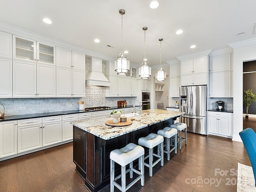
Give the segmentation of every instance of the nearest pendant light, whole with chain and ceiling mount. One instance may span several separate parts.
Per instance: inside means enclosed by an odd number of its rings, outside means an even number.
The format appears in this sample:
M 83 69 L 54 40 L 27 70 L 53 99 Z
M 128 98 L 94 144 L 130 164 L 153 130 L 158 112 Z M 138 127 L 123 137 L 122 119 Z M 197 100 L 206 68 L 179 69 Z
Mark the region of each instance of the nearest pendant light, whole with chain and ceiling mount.
M 118 75 L 126 75 L 130 71 L 130 61 L 126 58 L 126 54 L 123 53 L 123 15 L 125 10 L 120 9 L 119 14 L 122 15 L 122 51 L 115 60 L 115 71 Z

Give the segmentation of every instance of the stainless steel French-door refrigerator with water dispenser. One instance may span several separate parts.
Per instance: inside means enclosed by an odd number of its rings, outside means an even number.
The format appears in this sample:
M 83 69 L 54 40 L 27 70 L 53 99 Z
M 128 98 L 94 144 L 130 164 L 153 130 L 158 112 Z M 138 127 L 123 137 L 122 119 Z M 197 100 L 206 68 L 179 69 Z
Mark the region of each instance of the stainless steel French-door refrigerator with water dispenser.
M 180 87 L 180 112 L 185 112 L 180 122 L 187 124 L 187 131 L 207 135 L 206 120 L 207 86 Z

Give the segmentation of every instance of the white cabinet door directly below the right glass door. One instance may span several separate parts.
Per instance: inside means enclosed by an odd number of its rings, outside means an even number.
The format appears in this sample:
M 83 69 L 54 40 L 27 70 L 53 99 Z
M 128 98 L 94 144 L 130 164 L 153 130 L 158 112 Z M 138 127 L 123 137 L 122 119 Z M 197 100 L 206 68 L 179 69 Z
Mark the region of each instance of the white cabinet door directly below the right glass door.
M 56 67 L 44 64 L 37 64 L 37 96 L 56 96 Z

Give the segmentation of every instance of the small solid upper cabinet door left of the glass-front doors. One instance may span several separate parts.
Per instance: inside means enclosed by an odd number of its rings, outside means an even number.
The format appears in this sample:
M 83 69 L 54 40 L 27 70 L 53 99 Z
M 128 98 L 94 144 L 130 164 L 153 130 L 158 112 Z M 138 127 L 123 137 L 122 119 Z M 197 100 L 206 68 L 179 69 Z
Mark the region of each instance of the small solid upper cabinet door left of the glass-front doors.
M 12 58 L 12 34 L 0 31 L 0 57 Z

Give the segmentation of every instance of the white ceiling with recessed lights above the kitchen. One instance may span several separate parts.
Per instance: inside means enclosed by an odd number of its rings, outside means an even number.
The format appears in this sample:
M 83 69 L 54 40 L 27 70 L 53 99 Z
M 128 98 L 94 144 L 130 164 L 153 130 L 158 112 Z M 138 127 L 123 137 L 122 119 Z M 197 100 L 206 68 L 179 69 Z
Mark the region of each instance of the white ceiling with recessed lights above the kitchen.
M 203 50 L 256 38 L 255 0 L 0 0 L 0 22 L 68 42 L 116 58 L 121 52 L 121 15 L 124 9 L 124 50 L 133 64 L 146 58 L 150 66 Z M 52 24 L 42 22 L 50 18 Z M 183 34 L 177 35 L 176 30 Z M 242 36 L 237 36 L 246 32 Z M 100 39 L 95 43 L 94 39 Z M 191 49 L 192 44 L 196 48 Z M 110 48 L 110 45 L 114 48 Z

